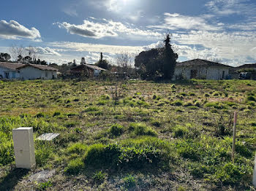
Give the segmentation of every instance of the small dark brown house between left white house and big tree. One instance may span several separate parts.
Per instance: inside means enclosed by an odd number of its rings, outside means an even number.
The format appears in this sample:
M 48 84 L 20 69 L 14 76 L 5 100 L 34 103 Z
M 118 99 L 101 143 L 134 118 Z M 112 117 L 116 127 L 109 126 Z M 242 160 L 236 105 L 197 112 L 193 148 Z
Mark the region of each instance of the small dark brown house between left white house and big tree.
M 95 65 L 83 63 L 79 66 L 75 66 L 74 68 L 70 69 L 69 73 L 75 76 L 97 77 L 99 76 L 101 71 L 107 70 Z

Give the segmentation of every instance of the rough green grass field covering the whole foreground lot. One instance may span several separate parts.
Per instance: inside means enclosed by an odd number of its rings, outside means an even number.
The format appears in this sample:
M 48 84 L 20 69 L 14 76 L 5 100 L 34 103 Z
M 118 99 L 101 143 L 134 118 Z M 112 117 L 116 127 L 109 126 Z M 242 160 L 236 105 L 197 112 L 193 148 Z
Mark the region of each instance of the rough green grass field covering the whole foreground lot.
M 0 81 L 0 190 L 253 190 L 256 82 Z M 238 111 L 231 161 L 233 112 Z M 33 127 L 37 171 L 15 169 Z

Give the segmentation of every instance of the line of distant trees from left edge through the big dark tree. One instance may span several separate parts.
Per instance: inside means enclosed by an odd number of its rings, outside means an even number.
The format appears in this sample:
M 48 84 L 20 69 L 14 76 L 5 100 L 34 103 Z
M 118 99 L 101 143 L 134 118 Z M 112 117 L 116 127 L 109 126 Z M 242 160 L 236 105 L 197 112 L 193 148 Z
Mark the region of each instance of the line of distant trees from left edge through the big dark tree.
M 0 61 L 19 63 L 34 63 L 46 65 L 46 61 L 40 61 L 36 47 L 10 47 L 10 54 L 0 53 Z M 173 51 L 170 44 L 170 35 L 165 36 L 163 47 L 153 48 L 151 50 L 140 52 L 135 56 L 135 67 L 132 67 L 134 56 L 128 52 L 121 52 L 116 55 L 116 65 L 111 65 L 107 59 L 103 58 L 102 52 L 95 66 L 108 71 L 122 73 L 127 75 L 136 75 L 142 79 L 172 79 L 178 55 Z M 81 64 L 85 64 L 85 58 L 81 59 Z M 50 63 L 50 66 L 59 69 L 61 73 L 67 73 L 69 69 L 78 66 L 75 60 L 61 66 L 56 63 Z

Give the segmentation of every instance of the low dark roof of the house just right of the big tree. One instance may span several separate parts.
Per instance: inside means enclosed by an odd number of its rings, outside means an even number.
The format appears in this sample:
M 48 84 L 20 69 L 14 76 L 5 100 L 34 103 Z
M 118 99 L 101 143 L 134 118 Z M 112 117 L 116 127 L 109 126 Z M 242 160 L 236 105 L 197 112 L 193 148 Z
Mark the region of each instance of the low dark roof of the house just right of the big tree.
M 218 67 L 221 66 L 221 67 L 233 68 L 232 66 L 227 66 L 222 63 L 216 63 L 216 62 L 206 61 L 202 59 L 195 59 L 191 61 L 177 63 L 176 66 L 218 66 Z

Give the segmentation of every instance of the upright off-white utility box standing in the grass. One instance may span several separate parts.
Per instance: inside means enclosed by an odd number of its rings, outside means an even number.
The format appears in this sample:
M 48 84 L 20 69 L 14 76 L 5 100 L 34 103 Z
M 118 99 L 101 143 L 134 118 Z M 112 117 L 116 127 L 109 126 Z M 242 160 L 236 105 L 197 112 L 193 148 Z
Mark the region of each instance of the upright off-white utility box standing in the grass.
M 36 167 L 34 155 L 33 128 L 12 130 L 16 168 L 33 169 Z

